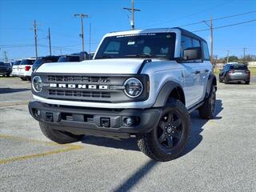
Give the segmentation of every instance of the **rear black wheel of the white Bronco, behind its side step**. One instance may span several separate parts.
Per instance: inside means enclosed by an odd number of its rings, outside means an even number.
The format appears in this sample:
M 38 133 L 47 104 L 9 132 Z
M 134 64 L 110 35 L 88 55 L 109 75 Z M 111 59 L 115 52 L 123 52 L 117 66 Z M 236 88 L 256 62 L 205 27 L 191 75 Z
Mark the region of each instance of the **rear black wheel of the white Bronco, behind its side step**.
M 215 86 L 211 86 L 209 97 L 206 98 L 204 104 L 199 108 L 200 117 L 204 119 L 214 118 L 215 104 L 216 104 L 216 89 L 215 89 Z

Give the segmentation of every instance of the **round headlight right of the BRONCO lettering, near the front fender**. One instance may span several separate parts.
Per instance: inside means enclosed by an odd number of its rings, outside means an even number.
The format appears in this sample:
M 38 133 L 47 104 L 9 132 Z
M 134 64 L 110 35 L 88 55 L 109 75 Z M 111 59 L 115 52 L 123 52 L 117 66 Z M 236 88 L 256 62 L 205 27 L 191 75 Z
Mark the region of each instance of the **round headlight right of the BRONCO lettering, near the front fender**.
M 129 78 L 124 83 L 125 93 L 130 98 L 138 98 L 142 94 L 143 86 L 142 82 L 138 78 Z

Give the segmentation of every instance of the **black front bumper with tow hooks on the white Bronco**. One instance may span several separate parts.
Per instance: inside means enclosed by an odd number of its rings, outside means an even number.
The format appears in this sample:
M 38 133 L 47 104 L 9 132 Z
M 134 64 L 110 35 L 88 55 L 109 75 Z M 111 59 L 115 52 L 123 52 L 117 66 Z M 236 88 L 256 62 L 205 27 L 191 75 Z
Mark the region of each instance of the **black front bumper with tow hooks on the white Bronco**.
M 128 138 L 131 134 L 148 133 L 158 125 L 161 108 L 147 110 L 111 110 L 86 107 L 54 106 L 42 102 L 29 103 L 30 114 L 56 130 L 72 134 Z M 39 112 L 38 112 L 39 111 Z M 125 118 L 134 118 L 133 126 L 126 126 Z

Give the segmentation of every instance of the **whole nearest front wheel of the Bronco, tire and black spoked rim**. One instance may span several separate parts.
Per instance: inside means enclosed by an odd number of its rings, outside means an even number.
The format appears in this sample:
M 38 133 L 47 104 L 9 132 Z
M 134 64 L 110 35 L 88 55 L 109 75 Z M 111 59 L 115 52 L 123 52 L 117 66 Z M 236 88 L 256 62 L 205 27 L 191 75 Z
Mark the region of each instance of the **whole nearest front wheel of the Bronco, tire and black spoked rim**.
M 189 140 L 190 115 L 186 106 L 171 98 L 162 111 L 158 126 L 148 134 L 138 134 L 138 148 L 148 157 L 167 162 L 184 150 Z

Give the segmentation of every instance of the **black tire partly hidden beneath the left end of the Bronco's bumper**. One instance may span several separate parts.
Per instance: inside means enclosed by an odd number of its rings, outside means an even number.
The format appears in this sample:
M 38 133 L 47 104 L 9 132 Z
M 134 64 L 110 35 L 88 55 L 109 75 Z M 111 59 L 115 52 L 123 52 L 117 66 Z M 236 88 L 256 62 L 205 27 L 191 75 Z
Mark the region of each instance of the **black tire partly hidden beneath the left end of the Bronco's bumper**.
M 59 130 L 54 130 L 49 125 L 43 122 L 39 122 L 39 126 L 46 138 L 50 138 L 51 141 L 57 142 L 59 144 L 78 142 L 81 141 L 83 137 L 83 135 L 75 135 Z

